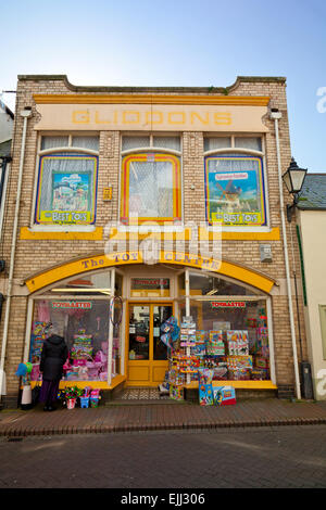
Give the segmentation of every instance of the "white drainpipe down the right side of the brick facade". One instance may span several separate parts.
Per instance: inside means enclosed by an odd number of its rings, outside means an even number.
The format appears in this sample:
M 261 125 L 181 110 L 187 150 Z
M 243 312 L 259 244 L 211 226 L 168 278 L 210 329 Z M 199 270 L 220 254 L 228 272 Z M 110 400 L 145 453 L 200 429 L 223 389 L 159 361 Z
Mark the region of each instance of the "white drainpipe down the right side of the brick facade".
M 294 328 L 293 308 L 292 308 L 292 291 L 291 291 L 290 270 L 289 270 L 288 241 L 287 241 L 285 212 L 284 212 L 280 150 L 279 150 L 279 138 L 278 138 L 278 119 L 281 118 L 281 113 L 278 112 L 278 110 L 273 109 L 272 112 L 271 112 L 271 118 L 274 120 L 274 125 L 275 125 L 277 168 L 278 168 L 278 188 L 279 188 L 279 206 L 280 206 L 284 258 L 285 258 L 285 266 L 286 266 L 286 280 L 287 280 L 288 304 L 289 304 L 289 316 L 290 316 L 290 328 L 291 328 L 291 340 L 292 340 L 292 352 L 293 352 L 296 394 L 297 394 L 297 398 L 301 399 L 300 377 L 299 377 L 298 356 L 297 356 L 297 342 L 296 342 L 296 328 Z

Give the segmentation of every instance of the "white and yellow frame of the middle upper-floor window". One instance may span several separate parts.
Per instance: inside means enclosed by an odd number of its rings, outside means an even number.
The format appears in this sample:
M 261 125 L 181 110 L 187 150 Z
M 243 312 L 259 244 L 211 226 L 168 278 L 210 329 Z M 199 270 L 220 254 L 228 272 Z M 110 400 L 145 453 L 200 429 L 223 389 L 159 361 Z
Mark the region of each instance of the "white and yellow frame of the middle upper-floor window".
M 150 143 L 148 146 L 138 146 L 128 150 L 122 150 L 123 145 L 123 137 L 149 137 Z M 180 150 L 176 151 L 173 149 L 155 146 L 154 145 L 154 138 L 164 138 L 164 137 L 178 137 L 180 140 Z M 121 157 L 120 157 L 120 183 L 118 183 L 118 219 L 121 224 L 123 224 L 128 230 L 133 230 L 134 227 L 138 227 L 140 225 L 159 225 L 167 226 L 167 227 L 180 227 L 184 222 L 184 175 L 183 175 L 183 137 L 180 133 L 176 132 L 147 132 L 147 131 L 133 131 L 133 132 L 122 132 L 121 133 Z M 140 154 L 149 154 L 149 155 L 166 155 L 171 157 L 177 157 L 178 160 L 178 176 L 174 179 L 174 182 L 177 180 L 178 189 L 173 188 L 173 212 L 176 213 L 176 217 L 172 218 L 138 218 L 138 224 L 130 221 L 129 218 L 129 209 L 128 209 L 128 201 L 126 196 L 123 196 L 123 192 L 125 191 L 123 188 L 123 178 L 124 178 L 124 169 L 123 163 L 126 157 L 130 157 L 133 155 L 138 156 Z M 178 206 L 176 207 L 176 200 Z M 123 206 L 124 211 L 127 211 L 127 214 L 123 216 Z

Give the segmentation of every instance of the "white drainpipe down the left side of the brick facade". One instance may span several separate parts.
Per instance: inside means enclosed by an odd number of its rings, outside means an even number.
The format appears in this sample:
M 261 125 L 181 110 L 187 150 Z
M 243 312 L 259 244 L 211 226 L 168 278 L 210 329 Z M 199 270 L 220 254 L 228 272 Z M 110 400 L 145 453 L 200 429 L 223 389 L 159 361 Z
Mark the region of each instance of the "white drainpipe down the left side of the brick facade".
M 0 359 L 0 397 L 1 398 L 2 398 L 1 394 L 2 394 L 2 385 L 3 385 L 3 370 L 4 370 L 4 360 L 5 360 L 7 341 L 8 341 L 8 330 L 9 330 L 10 306 L 11 306 L 12 288 L 13 288 L 13 271 L 14 271 L 16 239 L 17 239 L 17 229 L 18 229 L 18 216 L 20 216 L 20 206 L 21 206 L 21 194 L 22 194 L 23 168 L 24 168 L 24 158 L 25 158 L 27 120 L 28 120 L 28 117 L 30 117 L 30 115 L 32 115 L 30 106 L 26 106 L 25 110 L 22 110 L 20 114 L 24 118 L 24 124 L 23 124 L 23 135 L 22 135 L 22 149 L 21 149 L 21 160 L 20 160 L 20 169 L 18 169 L 18 181 L 17 181 L 17 193 L 16 193 L 14 225 L 13 225 L 13 231 L 12 231 L 12 243 L 11 243 L 11 255 L 10 255 L 10 266 L 9 266 L 9 277 L 8 277 L 8 290 L 7 290 L 7 299 L 5 299 L 5 313 L 4 313 L 3 337 L 2 337 L 2 347 L 1 347 L 1 359 Z

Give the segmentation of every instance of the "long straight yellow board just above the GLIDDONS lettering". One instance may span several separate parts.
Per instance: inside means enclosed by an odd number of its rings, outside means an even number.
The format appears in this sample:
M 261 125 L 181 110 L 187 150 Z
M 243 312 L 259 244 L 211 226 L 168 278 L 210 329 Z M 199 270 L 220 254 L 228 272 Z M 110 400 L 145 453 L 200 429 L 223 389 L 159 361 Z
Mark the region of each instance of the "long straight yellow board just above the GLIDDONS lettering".
M 267 106 L 269 95 L 34 94 L 36 104 L 212 104 Z

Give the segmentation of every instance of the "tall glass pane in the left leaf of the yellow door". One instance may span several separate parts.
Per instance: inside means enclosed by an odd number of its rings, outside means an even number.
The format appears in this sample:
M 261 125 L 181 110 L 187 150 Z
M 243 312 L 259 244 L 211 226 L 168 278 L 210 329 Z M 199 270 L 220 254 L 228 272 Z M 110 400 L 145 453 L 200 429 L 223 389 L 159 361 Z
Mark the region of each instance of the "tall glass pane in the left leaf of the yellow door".
M 150 345 L 150 307 L 130 305 L 129 359 L 148 360 Z

